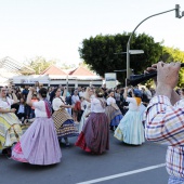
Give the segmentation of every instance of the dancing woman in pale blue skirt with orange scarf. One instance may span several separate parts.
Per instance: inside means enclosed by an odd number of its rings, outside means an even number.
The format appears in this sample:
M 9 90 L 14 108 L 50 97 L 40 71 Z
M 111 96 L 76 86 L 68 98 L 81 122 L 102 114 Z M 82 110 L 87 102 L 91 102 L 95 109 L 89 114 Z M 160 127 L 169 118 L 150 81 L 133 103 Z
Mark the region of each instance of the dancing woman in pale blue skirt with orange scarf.
M 131 91 L 132 97 L 128 97 L 128 88 L 124 89 L 123 97 L 129 102 L 129 110 L 117 127 L 115 137 L 127 144 L 141 145 L 145 142 L 141 113 L 142 92 L 137 89 Z

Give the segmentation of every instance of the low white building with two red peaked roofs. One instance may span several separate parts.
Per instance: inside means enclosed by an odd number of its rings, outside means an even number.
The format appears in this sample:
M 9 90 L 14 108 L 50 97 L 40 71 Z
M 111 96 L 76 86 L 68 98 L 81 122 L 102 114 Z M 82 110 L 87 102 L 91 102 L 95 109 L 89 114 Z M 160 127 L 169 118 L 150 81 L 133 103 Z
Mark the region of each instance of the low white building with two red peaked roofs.
M 40 75 L 15 76 L 13 83 L 15 86 L 35 84 L 35 82 L 42 83 L 44 87 L 63 86 L 68 89 L 78 87 L 101 87 L 103 78 L 90 71 L 88 68 L 79 66 L 73 70 L 66 71 L 52 65 L 42 71 Z

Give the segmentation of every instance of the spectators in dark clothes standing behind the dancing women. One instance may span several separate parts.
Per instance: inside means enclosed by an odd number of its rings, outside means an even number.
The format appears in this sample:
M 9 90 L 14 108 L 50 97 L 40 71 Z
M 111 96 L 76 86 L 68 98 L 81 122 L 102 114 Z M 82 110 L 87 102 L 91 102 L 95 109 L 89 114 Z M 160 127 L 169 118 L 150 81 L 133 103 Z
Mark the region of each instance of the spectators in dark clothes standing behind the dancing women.
M 32 102 L 39 101 L 38 91 L 42 87 L 43 87 L 43 84 L 39 84 L 39 82 L 37 82 L 35 84 L 35 92 L 34 92 L 32 98 L 31 98 Z M 84 95 L 87 88 L 78 87 L 76 89 L 73 89 L 71 92 L 68 92 L 68 91 L 66 91 L 66 87 L 64 87 L 64 86 L 63 87 L 62 86 L 49 87 L 47 98 L 48 98 L 48 101 L 51 102 L 51 104 L 52 104 L 52 101 L 55 96 L 55 90 L 57 88 L 61 89 L 61 96 L 64 97 L 65 104 L 75 106 L 77 102 L 81 103 L 81 106 L 79 107 L 78 110 L 67 109 L 67 111 L 70 115 L 73 115 L 74 121 L 79 122 L 80 119 L 81 119 L 82 113 L 87 108 L 87 101 L 83 98 L 83 95 Z M 6 93 L 8 96 L 10 96 L 12 98 L 11 95 L 12 95 L 12 92 L 14 92 L 17 100 L 18 100 L 18 103 L 12 105 L 12 108 L 16 109 L 15 114 L 18 117 L 18 119 L 22 122 L 24 122 L 25 119 L 35 118 L 34 107 L 29 107 L 26 104 L 26 98 L 27 98 L 27 95 L 28 95 L 28 92 L 29 92 L 29 86 L 24 86 L 23 88 L 21 88 L 21 87 L 6 87 L 6 89 L 8 89 L 8 93 Z M 94 92 L 95 87 L 91 87 L 90 89 L 93 90 L 93 92 Z M 143 103 L 143 105 L 147 106 L 150 98 L 155 95 L 155 90 L 153 88 L 149 88 L 148 86 L 146 86 L 146 87 L 134 87 L 134 89 L 140 89 L 142 91 L 142 103 Z M 104 84 L 102 87 L 102 90 L 104 91 L 104 97 L 107 98 L 108 97 L 108 91 L 111 90 L 111 89 L 107 89 L 106 86 Z M 116 104 L 118 105 L 122 115 L 124 115 L 128 110 L 128 103 L 123 98 L 124 88 L 115 88 L 113 91 L 114 91 L 114 98 L 116 100 Z M 178 92 L 178 94 L 181 95 L 181 98 L 184 97 L 184 89 L 176 89 L 176 92 Z M 131 91 L 128 91 L 128 95 L 132 96 Z

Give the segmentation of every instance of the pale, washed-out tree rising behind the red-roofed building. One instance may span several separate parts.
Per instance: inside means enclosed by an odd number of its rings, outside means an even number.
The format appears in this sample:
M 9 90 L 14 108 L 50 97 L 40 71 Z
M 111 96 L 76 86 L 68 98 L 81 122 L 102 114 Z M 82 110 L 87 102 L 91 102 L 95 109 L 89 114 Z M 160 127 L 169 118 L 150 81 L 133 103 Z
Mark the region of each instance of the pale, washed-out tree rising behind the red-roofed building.
M 47 61 L 42 56 L 37 56 L 36 58 L 30 60 L 29 67 L 36 70 L 36 74 L 39 75 L 41 71 L 47 69 L 49 66 L 55 64 L 55 61 Z

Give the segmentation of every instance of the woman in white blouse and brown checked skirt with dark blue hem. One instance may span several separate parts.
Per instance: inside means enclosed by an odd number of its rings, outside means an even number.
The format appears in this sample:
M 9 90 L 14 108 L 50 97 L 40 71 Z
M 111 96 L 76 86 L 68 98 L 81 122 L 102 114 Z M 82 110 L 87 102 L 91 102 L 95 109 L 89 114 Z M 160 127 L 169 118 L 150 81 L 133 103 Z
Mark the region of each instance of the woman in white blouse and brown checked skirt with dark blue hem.
M 61 97 L 61 89 L 55 90 L 55 98 L 52 102 L 52 107 L 54 109 L 52 117 L 54 119 L 57 137 L 61 141 L 64 139 L 66 146 L 68 146 L 68 137 L 77 136 L 79 133 L 71 116 L 65 109 L 73 108 L 73 106 L 65 105 L 64 100 Z

